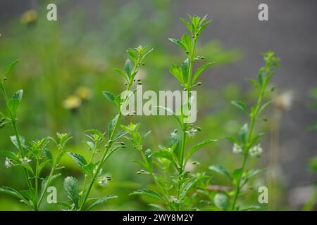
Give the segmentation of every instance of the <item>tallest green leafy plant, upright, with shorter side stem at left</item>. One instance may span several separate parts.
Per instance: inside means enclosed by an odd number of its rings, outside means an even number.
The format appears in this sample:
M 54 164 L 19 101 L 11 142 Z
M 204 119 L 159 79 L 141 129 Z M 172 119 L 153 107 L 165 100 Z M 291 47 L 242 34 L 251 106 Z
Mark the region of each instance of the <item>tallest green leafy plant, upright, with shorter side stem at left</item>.
M 141 153 L 142 160 L 135 160 L 142 169 L 139 174 L 150 174 L 156 184 L 156 190 L 145 188 L 135 191 L 132 194 L 145 195 L 159 201 L 158 204 L 151 204 L 160 210 L 192 210 L 194 207 L 189 202 L 189 191 L 197 185 L 201 179 L 204 179 L 204 174 L 191 174 L 187 171 L 186 166 L 189 163 L 192 155 L 200 148 L 212 143 L 216 140 L 208 139 L 201 143 L 197 143 L 192 148 L 188 148 L 187 139 L 194 136 L 200 127 L 188 123 L 190 117 L 194 116 L 189 113 L 192 103 L 192 91 L 194 86 L 200 85 L 197 79 L 206 68 L 209 68 L 212 63 L 204 63 L 196 71 L 194 71 L 194 63 L 204 60 L 204 56 L 196 55 L 197 41 L 201 32 L 211 23 L 211 21 L 200 18 L 197 15 L 189 15 L 189 22 L 182 19 L 185 23 L 188 33 L 182 35 L 181 39 L 170 39 L 174 44 L 180 46 L 185 51 L 187 58 L 182 62 L 182 65 L 173 64 L 170 66 L 170 73 L 178 79 L 182 88 L 187 93 L 187 99 L 183 99 L 179 114 L 173 112 L 173 109 L 163 108 L 170 115 L 173 115 L 178 124 L 180 124 L 180 131 L 175 129 L 170 134 L 168 146 L 160 145 L 159 151 L 154 153 L 147 149 L 144 151 L 142 146 L 142 139 L 144 136 L 139 134 L 139 124 L 130 124 L 123 127 L 131 136 L 133 146 Z M 196 113 L 196 112 L 194 112 Z M 188 148 L 188 150 L 187 150 Z M 157 160 L 155 160 L 155 158 Z M 156 165 L 159 169 L 154 169 Z

